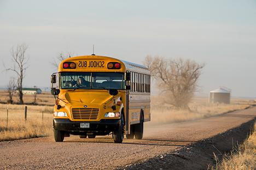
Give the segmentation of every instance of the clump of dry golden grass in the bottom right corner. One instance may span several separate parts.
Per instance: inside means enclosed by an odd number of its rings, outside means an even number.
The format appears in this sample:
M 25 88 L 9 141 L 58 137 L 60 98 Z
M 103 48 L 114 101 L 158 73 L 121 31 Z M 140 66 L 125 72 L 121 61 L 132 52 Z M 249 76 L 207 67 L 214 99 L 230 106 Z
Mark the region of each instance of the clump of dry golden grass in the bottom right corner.
M 216 166 L 208 169 L 216 170 L 238 170 L 256 169 L 256 124 L 254 124 L 254 132 L 251 136 L 229 155 L 225 155 L 222 162 L 216 159 Z

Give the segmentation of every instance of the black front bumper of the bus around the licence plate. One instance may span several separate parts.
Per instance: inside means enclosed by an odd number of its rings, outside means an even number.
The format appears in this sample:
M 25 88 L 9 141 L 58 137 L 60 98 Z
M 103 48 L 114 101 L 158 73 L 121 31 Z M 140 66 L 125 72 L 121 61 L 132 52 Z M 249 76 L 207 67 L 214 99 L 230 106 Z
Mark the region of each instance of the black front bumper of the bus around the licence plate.
M 80 128 L 80 123 L 90 123 L 89 128 Z M 99 122 L 71 121 L 69 119 L 53 119 L 55 130 L 68 132 L 113 132 L 120 126 L 120 119 L 102 119 Z

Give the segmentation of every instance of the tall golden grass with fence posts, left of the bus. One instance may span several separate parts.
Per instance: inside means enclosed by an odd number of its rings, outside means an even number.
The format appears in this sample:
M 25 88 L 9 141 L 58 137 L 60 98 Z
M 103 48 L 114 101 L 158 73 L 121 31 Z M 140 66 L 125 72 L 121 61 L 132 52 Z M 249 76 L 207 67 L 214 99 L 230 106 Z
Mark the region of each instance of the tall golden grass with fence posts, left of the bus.
M 7 124 L 8 107 L 8 124 Z M 53 107 L 0 104 L 0 141 L 49 136 L 53 133 Z M 44 111 L 42 118 L 42 111 Z

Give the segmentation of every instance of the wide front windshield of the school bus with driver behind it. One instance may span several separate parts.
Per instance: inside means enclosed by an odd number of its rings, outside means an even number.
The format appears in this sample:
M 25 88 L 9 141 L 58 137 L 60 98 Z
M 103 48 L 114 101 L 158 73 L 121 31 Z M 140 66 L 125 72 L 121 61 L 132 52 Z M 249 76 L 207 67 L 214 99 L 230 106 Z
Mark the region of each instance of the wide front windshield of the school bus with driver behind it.
M 125 89 L 122 72 L 61 72 L 62 89 Z

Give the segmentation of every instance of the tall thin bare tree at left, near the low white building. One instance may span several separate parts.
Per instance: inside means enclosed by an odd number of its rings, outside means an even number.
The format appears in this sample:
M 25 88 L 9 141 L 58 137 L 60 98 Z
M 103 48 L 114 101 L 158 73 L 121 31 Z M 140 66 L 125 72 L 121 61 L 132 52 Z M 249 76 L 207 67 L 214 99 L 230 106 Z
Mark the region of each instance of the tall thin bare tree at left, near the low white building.
M 17 45 L 16 48 L 11 48 L 11 57 L 13 60 L 13 66 L 6 69 L 15 72 L 17 76 L 17 89 L 19 93 L 19 103 L 23 102 L 22 84 L 25 77 L 25 71 L 27 69 L 28 57 L 25 55 L 28 46 L 26 44 Z

